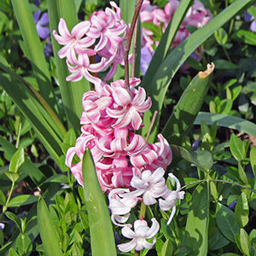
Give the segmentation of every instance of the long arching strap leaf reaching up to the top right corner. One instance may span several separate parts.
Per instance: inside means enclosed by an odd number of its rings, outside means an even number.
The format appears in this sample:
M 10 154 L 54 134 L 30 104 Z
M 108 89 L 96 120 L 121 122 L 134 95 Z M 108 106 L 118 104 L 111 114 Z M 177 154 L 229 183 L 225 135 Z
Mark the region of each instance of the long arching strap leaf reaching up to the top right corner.
M 178 68 L 183 62 L 191 55 L 191 53 L 199 47 L 207 38 L 209 38 L 213 32 L 215 32 L 220 26 L 223 26 L 225 22 L 230 20 L 236 13 L 241 10 L 251 0 L 236 0 L 228 8 L 224 9 L 219 15 L 213 18 L 207 23 L 206 26 L 201 27 L 196 32 L 191 34 L 189 38 L 185 39 L 172 52 L 166 56 L 165 61 L 162 62 L 158 71 L 154 74 L 154 78 L 148 84 L 142 84 L 143 87 L 148 91 L 148 95 L 152 99 L 151 109 L 144 114 L 143 123 L 145 126 L 142 130 L 142 135 L 145 137 L 148 133 L 148 127 L 151 123 L 154 111 L 158 111 L 159 114 L 154 122 L 154 128 L 148 139 L 149 143 L 154 142 L 154 138 L 157 134 L 157 127 L 160 122 L 160 112 L 163 106 L 166 90 L 172 81 Z

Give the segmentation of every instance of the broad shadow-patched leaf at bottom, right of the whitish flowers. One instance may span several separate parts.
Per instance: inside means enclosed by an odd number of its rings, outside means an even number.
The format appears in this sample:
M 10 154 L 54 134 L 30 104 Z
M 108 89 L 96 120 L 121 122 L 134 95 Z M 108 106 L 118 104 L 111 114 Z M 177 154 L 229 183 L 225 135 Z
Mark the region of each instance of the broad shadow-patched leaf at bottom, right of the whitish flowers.
M 208 183 L 202 183 L 196 187 L 190 203 L 182 247 L 192 249 L 189 256 L 206 256 L 210 203 Z

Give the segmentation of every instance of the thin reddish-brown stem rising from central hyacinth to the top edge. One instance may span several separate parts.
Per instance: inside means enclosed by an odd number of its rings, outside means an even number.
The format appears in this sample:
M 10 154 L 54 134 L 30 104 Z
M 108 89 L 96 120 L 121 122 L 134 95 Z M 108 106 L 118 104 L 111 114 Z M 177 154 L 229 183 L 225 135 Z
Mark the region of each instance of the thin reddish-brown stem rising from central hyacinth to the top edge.
M 132 35 L 135 29 L 135 26 L 137 24 L 137 17 L 139 15 L 140 9 L 142 7 L 143 4 L 143 0 L 139 0 L 137 7 L 135 9 L 133 18 L 131 20 L 131 27 L 130 27 L 130 31 L 128 33 L 128 38 L 127 38 L 127 43 L 125 46 L 125 54 L 124 54 L 124 61 L 125 61 L 125 86 L 129 87 L 129 63 L 128 63 L 128 55 L 129 55 L 129 51 L 131 49 L 131 39 L 132 39 Z

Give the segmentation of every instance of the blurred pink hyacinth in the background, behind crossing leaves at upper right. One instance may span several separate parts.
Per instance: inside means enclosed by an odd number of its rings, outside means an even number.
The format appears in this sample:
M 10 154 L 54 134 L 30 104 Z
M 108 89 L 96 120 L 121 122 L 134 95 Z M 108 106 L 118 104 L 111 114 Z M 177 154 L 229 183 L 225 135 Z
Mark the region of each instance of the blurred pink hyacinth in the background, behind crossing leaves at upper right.
M 151 5 L 150 1 L 144 0 L 143 6 L 140 13 L 141 22 L 152 22 L 154 25 L 162 28 L 162 32 L 166 31 L 172 16 L 177 9 L 179 1 L 170 0 L 166 3 L 165 9 L 158 9 L 156 5 Z M 195 0 L 194 5 L 189 8 L 188 13 L 181 26 L 179 27 L 177 34 L 173 40 L 172 48 L 181 44 L 185 38 L 188 38 L 190 33 L 186 26 L 196 26 L 201 27 L 207 24 L 209 20 L 212 19 L 212 14 L 209 10 L 205 9 L 204 5 Z M 142 27 L 142 61 L 141 68 L 143 74 L 146 73 L 148 64 L 154 55 L 154 49 L 159 44 L 159 42 L 154 42 L 154 33 Z M 197 61 L 201 60 L 200 55 L 201 49 L 197 49 L 195 58 Z

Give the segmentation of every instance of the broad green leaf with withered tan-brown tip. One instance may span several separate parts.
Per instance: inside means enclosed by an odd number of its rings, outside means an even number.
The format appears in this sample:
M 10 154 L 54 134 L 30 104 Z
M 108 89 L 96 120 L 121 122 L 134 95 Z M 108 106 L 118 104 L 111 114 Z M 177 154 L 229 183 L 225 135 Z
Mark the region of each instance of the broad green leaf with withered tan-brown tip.
M 183 136 L 193 125 L 209 87 L 209 76 L 214 70 L 214 65 L 208 65 L 205 72 L 198 73 L 190 82 L 177 105 L 174 107 L 171 117 L 168 119 L 162 134 L 171 144 L 180 145 Z M 195 101 L 196 98 L 196 101 Z

